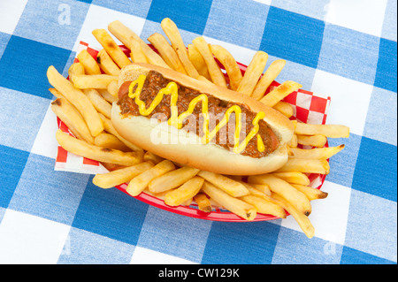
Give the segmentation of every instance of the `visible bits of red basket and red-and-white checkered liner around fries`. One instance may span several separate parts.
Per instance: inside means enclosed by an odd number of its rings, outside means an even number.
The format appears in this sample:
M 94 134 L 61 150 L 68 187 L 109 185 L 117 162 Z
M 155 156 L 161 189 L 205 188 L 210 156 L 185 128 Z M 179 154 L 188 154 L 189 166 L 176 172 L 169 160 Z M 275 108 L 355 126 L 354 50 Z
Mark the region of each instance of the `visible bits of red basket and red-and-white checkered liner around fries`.
M 149 45 L 152 47 L 151 45 Z M 126 56 L 129 57 L 130 50 L 126 49 L 125 46 L 120 46 L 120 48 L 126 53 Z M 153 48 L 153 47 L 152 47 Z M 86 42 L 80 42 L 79 48 L 76 52 L 76 54 L 79 54 L 80 50 L 88 50 L 88 53 L 96 58 L 99 49 L 88 46 L 88 43 Z M 77 58 L 74 59 L 74 62 L 78 62 L 79 60 Z M 218 65 L 221 67 L 223 71 L 224 67 L 223 65 L 219 64 Z M 246 71 L 247 66 L 242 65 L 238 63 L 239 67 L 241 68 L 241 72 L 244 73 Z M 226 77 L 227 79 L 227 77 Z M 279 86 L 279 82 L 273 81 L 272 85 L 270 88 L 267 90 L 265 95 L 270 92 L 273 88 L 276 88 Z M 308 123 L 308 124 L 323 124 L 325 125 L 326 122 L 326 117 L 327 117 L 327 111 L 330 106 L 331 98 L 328 96 L 324 95 L 317 95 L 315 93 L 312 93 L 310 91 L 302 90 L 299 89 L 298 91 L 295 91 L 291 93 L 290 95 L 287 95 L 285 99 L 283 100 L 284 102 L 290 103 L 293 105 L 294 109 L 294 116 L 292 119 L 297 119 L 301 122 Z M 69 133 L 73 135 L 68 129 L 67 126 L 59 119 L 57 118 L 57 126 L 59 129 L 61 129 L 65 133 Z M 326 144 L 327 146 L 327 144 Z M 86 174 L 97 174 L 97 173 L 105 173 L 108 172 L 106 168 L 103 167 L 102 164 L 100 164 L 97 161 L 88 159 L 86 157 L 82 156 L 76 156 L 62 147 L 58 146 L 57 149 L 57 158 L 56 158 L 56 163 L 55 163 L 55 170 L 56 171 L 73 171 L 73 172 L 79 172 L 79 173 L 86 173 Z M 320 188 L 322 187 L 324 181 L 325 181 L 325 175 L 322 174 L 315 174 L 312 173 L 309 175 L 310 178 L 310 186 L 311 187 L 316 187 Z M 127 183 L 124 183 L 122 185 L 117 186 L 120 191 L 126 192 L 126 187 Z M 138 196 L 135 196 L 134 198 L 146 202 L 152 206 L 155 206 L 157 208 L 160 208 L 162 210 L 168 210 L 180 215 L 188 216 L 188 217 L 197 217 L 197 218 L 202 218 L 202 219 L 208 219 L 208 220 L 215 220 L 215 221 L 228 221 L 228 222 L 247 222 L 247 220 L 236 216 L 232 212 L 228 210 L 223 210 L 223 209 L 214 209 L 210 213 L 203 212 L 202 210 L 197 209 L 197 205 L 192 203 L 189 206 L 179 206 L 179 207 L 171 207 L 165 204 L 165 202 L 161 199 L 158 199 L 155 196 L 152 196 L 150 194 L 142 193 L 139 194 Z M 278 217 L 274 217 L 272 215 L 264 215 L 264 214 L 257 214 L 256 218 L 254 221 L 264 221 L 264 220 L 272 220 L 276 219 Z

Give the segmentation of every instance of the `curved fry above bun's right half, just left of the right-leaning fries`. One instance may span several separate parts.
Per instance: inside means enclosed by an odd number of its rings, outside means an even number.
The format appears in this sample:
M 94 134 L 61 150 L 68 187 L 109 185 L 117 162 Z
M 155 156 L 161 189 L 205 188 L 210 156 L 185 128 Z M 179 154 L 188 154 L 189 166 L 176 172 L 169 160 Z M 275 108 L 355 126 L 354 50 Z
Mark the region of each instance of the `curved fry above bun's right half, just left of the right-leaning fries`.
M 235 58 L 228 50 L 220 45 L 210 44 L 210 50 L 214 57 L 216 57 L 218 61 L 224 65 L 226 74 L 228 74 L 230 88 L 233 90 L 238 89 L 243 76 L 241 74 L 239 65 L 235 61 Z

